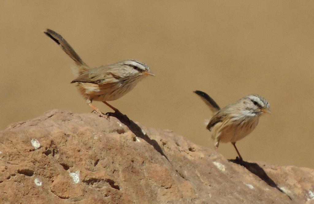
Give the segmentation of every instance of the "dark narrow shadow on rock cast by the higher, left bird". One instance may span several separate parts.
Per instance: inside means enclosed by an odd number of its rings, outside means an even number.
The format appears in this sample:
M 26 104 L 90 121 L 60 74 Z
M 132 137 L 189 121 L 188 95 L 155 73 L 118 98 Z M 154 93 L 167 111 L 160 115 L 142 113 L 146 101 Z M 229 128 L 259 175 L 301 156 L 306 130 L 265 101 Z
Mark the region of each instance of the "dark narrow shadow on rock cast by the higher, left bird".
M 134 123 L 133 120 L 130 120 L 127 117 L 127 115 L 122 114 L 120 111 L 116 111 L 114 113 L 108 112 L 106 113 L 106 115 L 113 116 L 120 120 L 120 122 L 126 125 L 134 133 L 135 136 L 142 138 L 148 144 L 152 145 L 156 151 L 158 151 L 162 156 L 164 156 L 169 161 L 168 157 L 164 154 L 158 142 L 156 140 L 151 140 L 146 133 L 144 134 L 142 128 L 138 126 L 136 123 Z

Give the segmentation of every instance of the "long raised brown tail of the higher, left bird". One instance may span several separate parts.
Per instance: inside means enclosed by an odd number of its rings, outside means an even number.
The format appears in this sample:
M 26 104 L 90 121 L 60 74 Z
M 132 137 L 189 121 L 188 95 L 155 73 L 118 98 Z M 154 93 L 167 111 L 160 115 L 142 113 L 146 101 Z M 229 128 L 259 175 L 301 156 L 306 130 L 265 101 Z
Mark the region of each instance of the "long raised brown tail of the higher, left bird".
M 46 29 L 46 31 L 44 31 L 44 33 L 51 38 L 53 41 L 55 41 L 58 45 L 61 46 L 61 48 L 63 49 L 63 51 L 68 54 L 70 56 L 70 58 L 72 58 L 75 62 L 75 64 L 77 64 L 77 71 L 79 73 L 84 72 L 85 70 L 89 69 L 89 66 L 87 64 L 85 64 L 85 62 L 78 56 L 78 54 L 74 51 L 74 49 L 71 47 L 71 45 L 64 39 L 62 38 L 62 36 L 51 30 L 51 29 Z

